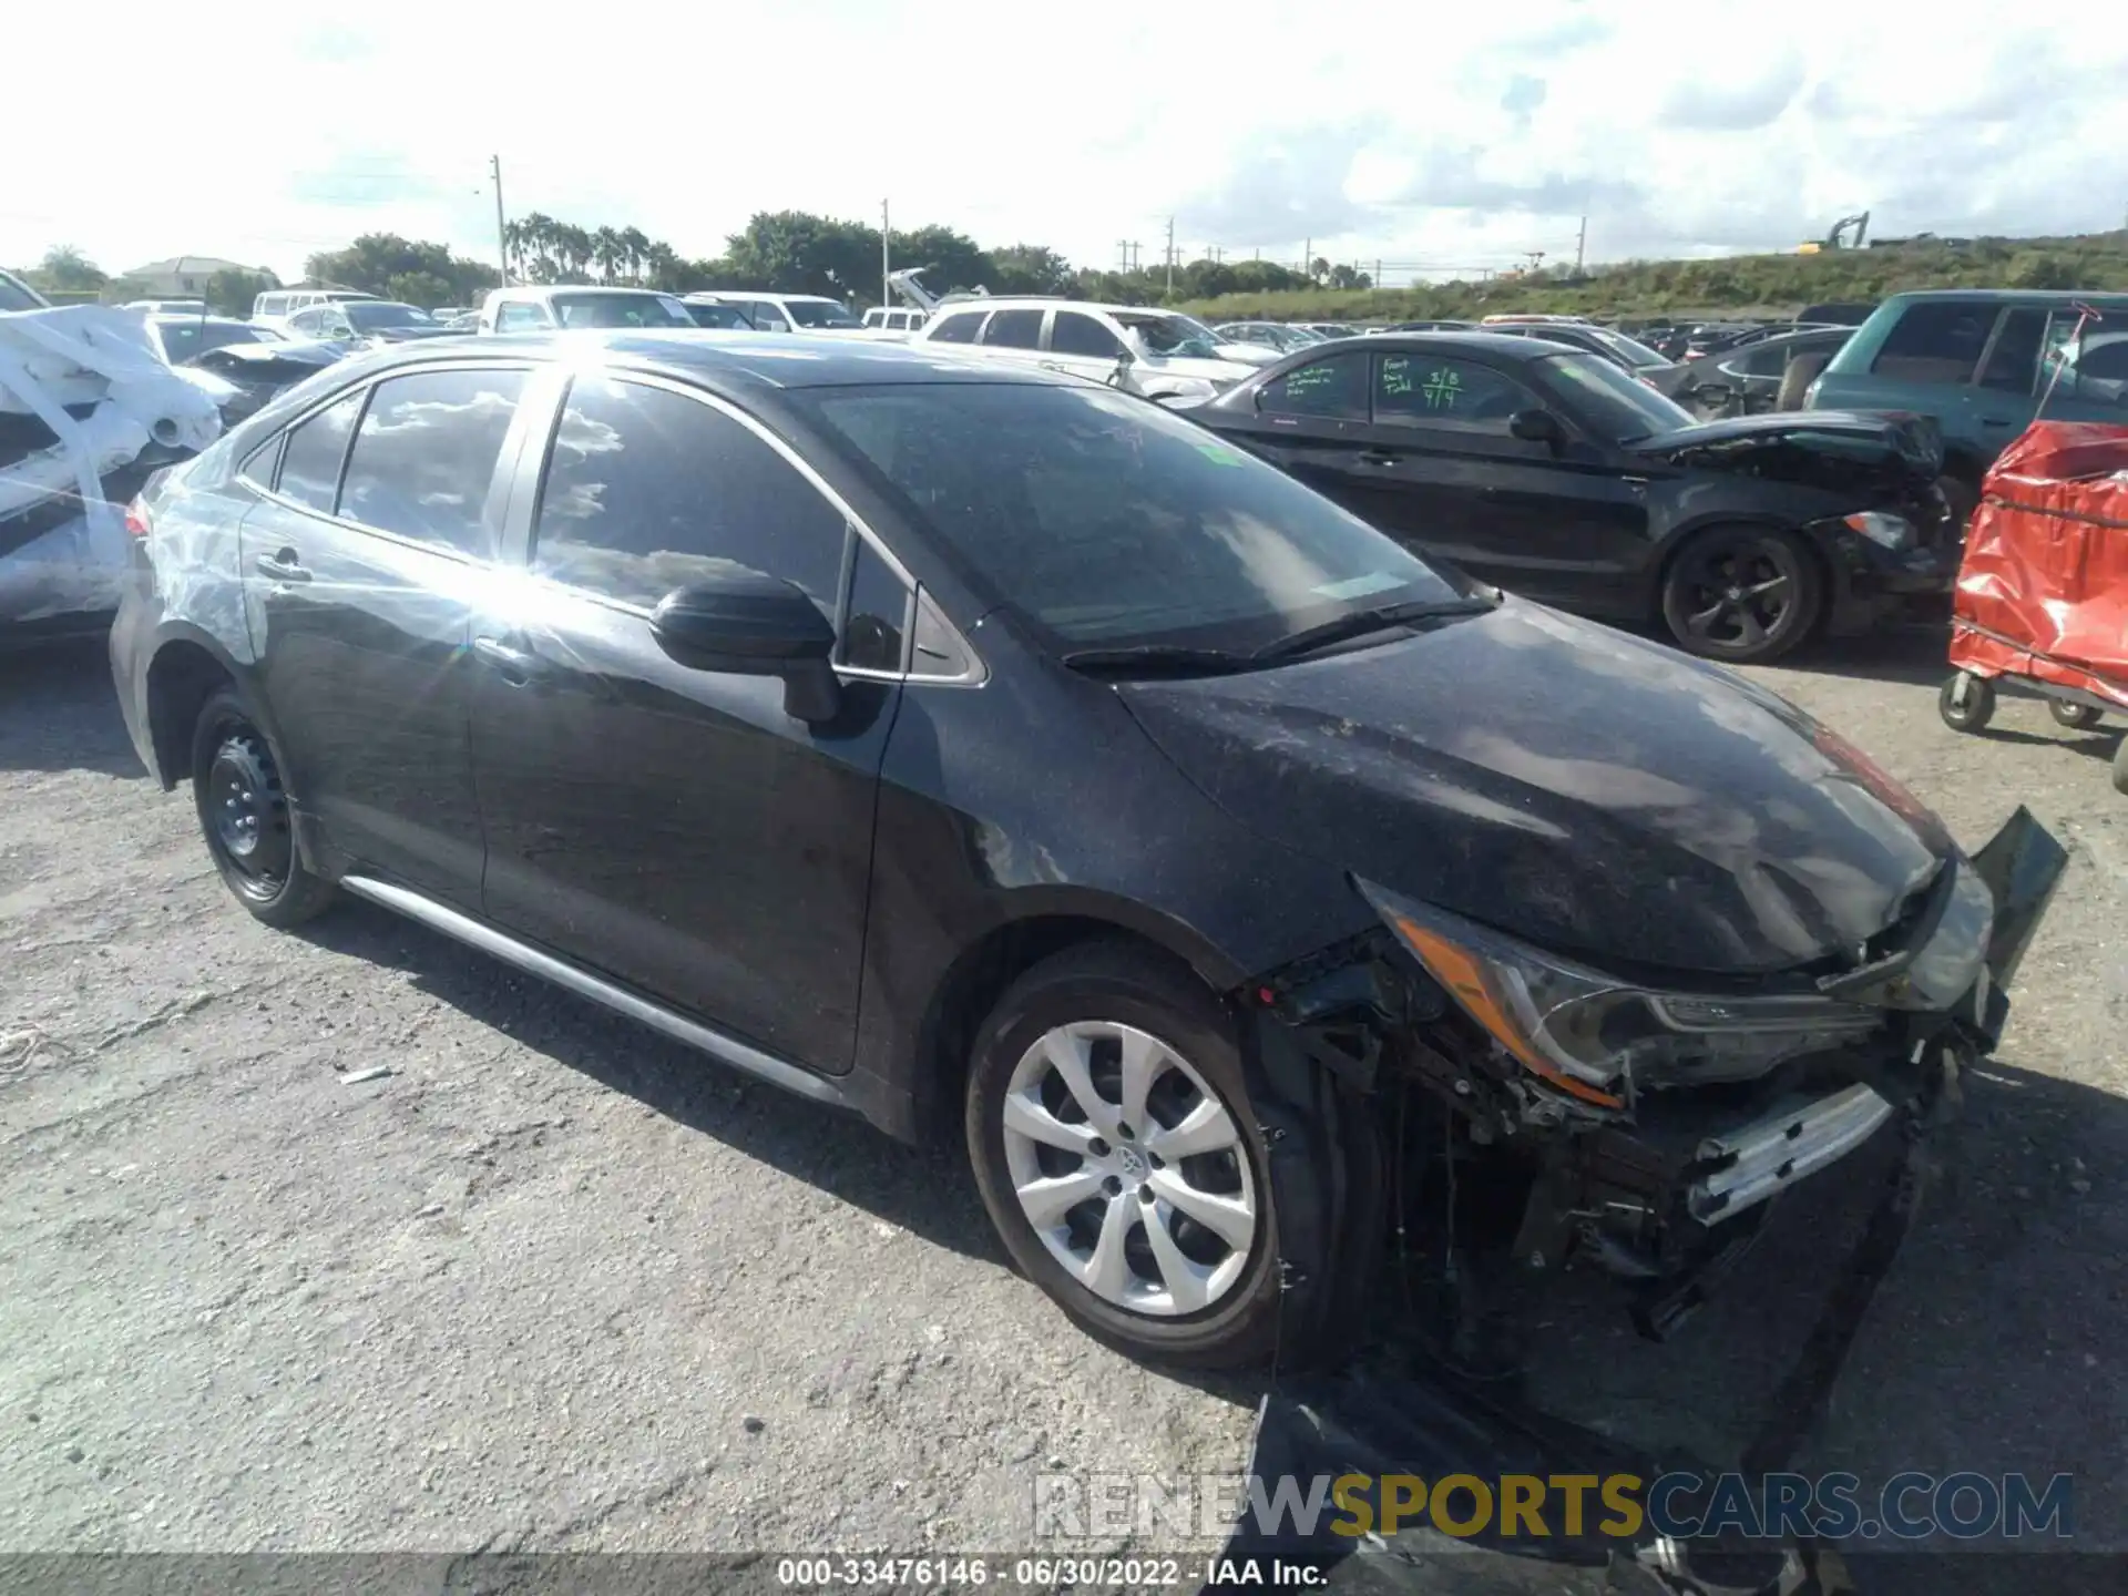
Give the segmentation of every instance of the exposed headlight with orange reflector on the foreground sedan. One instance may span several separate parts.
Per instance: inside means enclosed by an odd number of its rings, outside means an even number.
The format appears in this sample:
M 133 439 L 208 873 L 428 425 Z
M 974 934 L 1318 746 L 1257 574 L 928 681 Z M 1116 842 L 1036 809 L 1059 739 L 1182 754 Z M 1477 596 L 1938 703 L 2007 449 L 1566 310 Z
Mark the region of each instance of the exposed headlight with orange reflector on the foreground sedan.
M 1839 1047 L 1883 1011 L 1815 994 L 1715 996 L 1632 985 L 1460 915 L 1358 881 L 1411 955 L 1526 1070 L 1598 1109 L 1634 1092 L 1764 1075 Z

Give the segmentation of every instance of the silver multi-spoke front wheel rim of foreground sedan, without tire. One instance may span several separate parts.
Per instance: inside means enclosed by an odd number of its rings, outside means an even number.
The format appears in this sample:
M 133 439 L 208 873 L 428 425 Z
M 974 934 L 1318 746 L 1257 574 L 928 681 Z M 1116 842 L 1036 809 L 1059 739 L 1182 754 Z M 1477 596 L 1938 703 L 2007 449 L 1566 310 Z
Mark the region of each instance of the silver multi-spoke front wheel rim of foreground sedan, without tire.
M 1198 1313 L 1241 1281 L 1258 1238 L 1241 1130 L 1158 1036 L 1055 1026 L 1019 1058 L 1002 1117 L 1019 1211 L 1102 1302 Z

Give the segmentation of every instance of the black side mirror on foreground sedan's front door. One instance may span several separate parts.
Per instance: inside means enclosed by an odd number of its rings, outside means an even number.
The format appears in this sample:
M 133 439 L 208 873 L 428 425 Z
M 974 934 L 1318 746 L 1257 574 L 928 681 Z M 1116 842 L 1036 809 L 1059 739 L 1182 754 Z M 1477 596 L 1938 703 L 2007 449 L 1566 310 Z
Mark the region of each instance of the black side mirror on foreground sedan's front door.
M 834 628 L 794 581 L 734 570 L 675 587 L 651 611 L 651 636 L 689 670 L 783 677 L 783 713 L 792 719 L 817 726 L 841 706 L 828 664 Z

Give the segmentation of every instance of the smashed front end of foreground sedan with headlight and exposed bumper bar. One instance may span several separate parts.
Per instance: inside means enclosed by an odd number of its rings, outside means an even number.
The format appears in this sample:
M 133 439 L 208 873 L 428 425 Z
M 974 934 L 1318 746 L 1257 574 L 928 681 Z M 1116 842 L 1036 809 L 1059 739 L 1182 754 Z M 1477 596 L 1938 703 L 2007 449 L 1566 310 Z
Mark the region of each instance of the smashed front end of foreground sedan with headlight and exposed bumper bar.
M 1422 1087 L 1466 1160 L 1524 1177 L 1511 1260 L 1602 1266 L 1660 1339 L 1775 1196 L 1956 1104 L 2062 864 L 2019 809 L 1839 968 L 1719 990 L 1626 979 L 1356 881 L 1381 930 L 1256 985 L 1281 1032 L 1262 1051 L 1298 1049 L 1349 1090 Z

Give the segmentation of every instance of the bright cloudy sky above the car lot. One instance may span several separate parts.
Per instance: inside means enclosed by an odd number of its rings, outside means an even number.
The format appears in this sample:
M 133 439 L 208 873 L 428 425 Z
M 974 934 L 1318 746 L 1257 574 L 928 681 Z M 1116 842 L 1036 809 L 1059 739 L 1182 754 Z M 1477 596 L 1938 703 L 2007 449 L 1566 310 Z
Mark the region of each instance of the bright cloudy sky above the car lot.
M 0 262 L 266 264 L 513 215 L 721 253 L 755 211 L 1411 270 L 2128 219 L 2128 28 L 1981 0 L 1307 6 L 226 0 L 0 23 Z

